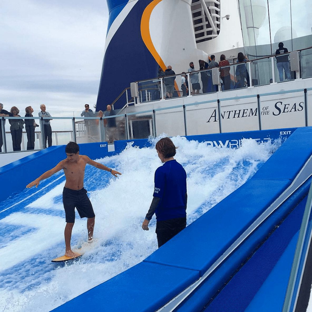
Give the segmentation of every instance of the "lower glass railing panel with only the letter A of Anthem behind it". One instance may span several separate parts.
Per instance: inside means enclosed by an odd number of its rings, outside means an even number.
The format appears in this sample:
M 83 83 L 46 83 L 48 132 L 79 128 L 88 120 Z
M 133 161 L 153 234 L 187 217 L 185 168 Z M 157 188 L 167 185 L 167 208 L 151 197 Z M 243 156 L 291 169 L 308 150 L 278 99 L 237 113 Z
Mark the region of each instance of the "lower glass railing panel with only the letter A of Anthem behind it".
M 186 106 L 188 135 L 219 133 L 217 103 Z

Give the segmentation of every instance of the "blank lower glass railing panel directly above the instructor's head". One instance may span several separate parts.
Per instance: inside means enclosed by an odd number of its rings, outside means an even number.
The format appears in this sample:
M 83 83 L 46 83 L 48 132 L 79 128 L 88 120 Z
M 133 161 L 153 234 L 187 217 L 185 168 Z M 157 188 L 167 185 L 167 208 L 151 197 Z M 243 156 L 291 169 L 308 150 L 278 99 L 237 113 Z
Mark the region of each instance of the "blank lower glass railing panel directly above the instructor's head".
M 183 107 L 155 111 L 156 135 L 169 136 L 185 134 Z

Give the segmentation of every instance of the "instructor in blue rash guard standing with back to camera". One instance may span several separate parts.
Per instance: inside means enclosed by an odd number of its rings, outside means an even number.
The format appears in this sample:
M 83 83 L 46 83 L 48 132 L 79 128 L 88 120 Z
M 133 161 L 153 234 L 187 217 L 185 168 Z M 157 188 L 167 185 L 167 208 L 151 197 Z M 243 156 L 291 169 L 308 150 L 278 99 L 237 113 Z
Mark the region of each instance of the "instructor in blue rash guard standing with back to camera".
M 155 171 L 155 188 L 152 204 L 142 224 L 149 230 L 149 221 L 156 215 L 158 248 L 172 239 L 186 227 L 186 172 L 173 156 L 176 147 L 170 138 L 162 138 L 156 144 L 158 157 L 162 163 Z

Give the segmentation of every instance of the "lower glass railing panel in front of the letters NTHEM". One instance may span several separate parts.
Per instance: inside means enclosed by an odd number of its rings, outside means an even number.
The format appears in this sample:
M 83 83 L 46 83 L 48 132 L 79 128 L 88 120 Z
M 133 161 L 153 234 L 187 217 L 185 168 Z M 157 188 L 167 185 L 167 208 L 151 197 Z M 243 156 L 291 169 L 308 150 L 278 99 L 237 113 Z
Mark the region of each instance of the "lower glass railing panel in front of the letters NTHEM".
M 256 98 L 220 101 L 222 132 L 259 130 L 258 103 Z M 218 120 L 218 112 L 217 120 Z M 210 122 L 214 115 L 210 117 Z

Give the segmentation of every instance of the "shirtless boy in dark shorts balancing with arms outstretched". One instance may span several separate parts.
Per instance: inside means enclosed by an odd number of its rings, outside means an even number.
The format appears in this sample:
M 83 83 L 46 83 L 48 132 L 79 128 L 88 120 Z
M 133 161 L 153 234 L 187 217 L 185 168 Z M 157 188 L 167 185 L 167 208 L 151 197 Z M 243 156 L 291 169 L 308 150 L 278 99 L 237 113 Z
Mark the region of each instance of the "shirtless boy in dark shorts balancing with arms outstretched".
M 66 145 L 65 153 L 67 155 L 66 159 L 59 162 L 54 168 L 46 171 L 44 174 L 41 174 L 39 178 L 29 183 L 26 187 L 31 188 L 34 185 L 38 187 L 41 180 L 51 177 L 51 175 L 61 169 L 64 170 L 66 177 L 66 183 L 63 190 L 63 205 L 66 216 L 66 227 L 64 231 L 66 248 L 65 256 L 76 257 L 80 254 L 71 250 L 71 232 L 75 223 L 75 207 L 77 208 L 80 218 L 88 218 L 87 230 L 89 241 L 93 239 L 93 229 L 95 223 L 95 214 L 92 204 L 87 196 L 87 191 L 83 187 L 85 165 L 89 164 L 96 168 L 109 171 L 115 177 L 117 177 L 117 174 L 121 173 L 93 161 L 88 156 L 79 155 L 79 146 L 75 142 L 69 142 Z

